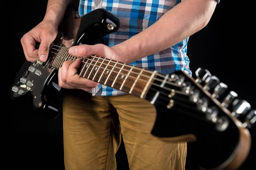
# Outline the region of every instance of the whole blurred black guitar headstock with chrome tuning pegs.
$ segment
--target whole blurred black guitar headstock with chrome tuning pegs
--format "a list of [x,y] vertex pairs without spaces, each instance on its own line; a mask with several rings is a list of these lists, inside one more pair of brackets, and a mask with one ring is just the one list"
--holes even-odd
[[157,110],[151,133],[166,142],[196,142],[204,169],[236,169],[250,152],[256,111],[208,70],[195,75],[155,78],[146,96]]

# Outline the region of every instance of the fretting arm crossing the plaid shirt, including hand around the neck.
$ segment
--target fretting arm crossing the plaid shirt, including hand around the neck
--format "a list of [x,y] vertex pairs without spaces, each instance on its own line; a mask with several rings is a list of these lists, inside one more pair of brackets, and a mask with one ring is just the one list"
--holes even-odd
[[[76,57],[97,55],[119,62],[131,63],[162,51],[204,28],[215,10],[215,0],[183,0],[156,23],[130,39],[111,48],[106,45],[78,45],[69,53]],[[63,88],[91,90],[98,84],[79,77],[81,59],[64,62],[59,70],[59,85]]]

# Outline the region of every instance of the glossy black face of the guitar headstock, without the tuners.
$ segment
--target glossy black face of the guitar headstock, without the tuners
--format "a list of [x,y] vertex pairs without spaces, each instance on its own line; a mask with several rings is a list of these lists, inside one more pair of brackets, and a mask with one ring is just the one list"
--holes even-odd
[[[177,71],[175,74],[183,75],[183,72]],[[186,76],[184,76],[186,77]],[[163,79],[163,77],[157,77]],[[192,82],[189,78],[185,82]],[[154,83],[160,83],[155,81]],[[199,91],[197,85],[193,85]],[[167,88],[174,88],[182,91],[179,87],[166,84]],[[197,105],[189,100],[189,96],[175,94],[172,97],[174,106],[168,109],[170,98],[169,91],[163,88],[152,86],[148,91],[146,99],[151,101],[156,94],[160,92],[154,106],[157,110],[157,118],[151,133],[158,137],[176,137],[186,134],[194,134],[197,138],[197,152],[199,166],[205,169],[214,169],[229,163],[227,160],[235,156],[239,144],[239,129],[233,120],[227,116],[222,109],[201,91],[201,97],[208,99],[208,107],[218,109],[218,116],[223,116],[229,120],[229,126],[226,130],[220,132],[216,129],[216,124],[206,119],[206,113],[199,111]],[[226,162],[225,162],[226,161]]]

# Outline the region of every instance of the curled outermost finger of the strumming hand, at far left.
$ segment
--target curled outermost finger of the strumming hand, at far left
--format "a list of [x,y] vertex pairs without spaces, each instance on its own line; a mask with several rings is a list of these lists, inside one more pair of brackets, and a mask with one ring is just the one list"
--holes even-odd
[[35,49],[35,39],[30,35],[25,35],[23,38],[24,48],[28,58],[38,58],[38,50]]

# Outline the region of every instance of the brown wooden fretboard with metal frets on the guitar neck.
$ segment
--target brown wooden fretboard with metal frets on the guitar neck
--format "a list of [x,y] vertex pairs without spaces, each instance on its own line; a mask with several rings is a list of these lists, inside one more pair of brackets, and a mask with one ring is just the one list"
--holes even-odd
[[[68,48],[53,47],[50,52],[54,58],[52,66],[57,69],[61,68],[65,61],[78,59],[68,53]],[[156,71],[145,70],[98,56],[82,58],[81,68],[78,72],[80,77],[140,96],[140,98],[145,97],[156,73]]]

